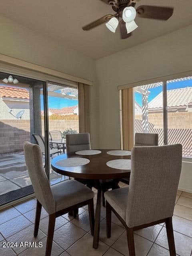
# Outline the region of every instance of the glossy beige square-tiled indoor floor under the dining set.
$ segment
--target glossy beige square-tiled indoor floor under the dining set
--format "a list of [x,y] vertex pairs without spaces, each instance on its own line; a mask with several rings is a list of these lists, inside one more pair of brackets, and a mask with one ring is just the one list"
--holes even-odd
[[[126,186],[120,182],[120,186]],[[95,192],[96,194],[96,192]],[[94,200],[96,204],[96,200]],[[1,256],[44,256],[48,214],[42,210],[39,233],[33,236],[36,200],[31,199],[0,212]],[[106,238],[106,214],[102,208],[100,242],[92,248],[93,237],[87,207],[80,208],[74,219],[65,214],[56,219],[52,256],[128,256],[126,232],[122,224],[112,216],[112,236]],[[173,217],[176,253],[192,256],[192,194],[178,191]],[[136,256],[169,256],[166,228],[156,225],[135,232]],[[2,248],[2,242],[42,242],[42,248]]]

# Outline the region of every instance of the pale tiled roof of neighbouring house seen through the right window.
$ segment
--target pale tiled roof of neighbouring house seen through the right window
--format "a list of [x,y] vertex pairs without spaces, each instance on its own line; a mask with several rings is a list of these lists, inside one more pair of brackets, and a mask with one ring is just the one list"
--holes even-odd
[[[168,108],[185,107],[192,104],[192,87],[174,89],[167,91]],[[162,92],[149,102],[149,110],[163,108]]]

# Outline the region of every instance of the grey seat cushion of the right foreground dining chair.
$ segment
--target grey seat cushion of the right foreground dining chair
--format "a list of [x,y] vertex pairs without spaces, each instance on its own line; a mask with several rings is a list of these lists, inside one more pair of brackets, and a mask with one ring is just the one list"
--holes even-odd
[[114,210],[126,221],[126,207],[129,187],[117,188],[105,192],[106,201],[114,208]]

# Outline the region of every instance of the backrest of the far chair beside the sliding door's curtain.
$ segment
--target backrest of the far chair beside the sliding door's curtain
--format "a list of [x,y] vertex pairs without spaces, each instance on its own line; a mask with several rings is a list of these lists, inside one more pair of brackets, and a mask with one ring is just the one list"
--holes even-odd
[[66,134],[67,153],[89,149],[91,149],[89,133]]

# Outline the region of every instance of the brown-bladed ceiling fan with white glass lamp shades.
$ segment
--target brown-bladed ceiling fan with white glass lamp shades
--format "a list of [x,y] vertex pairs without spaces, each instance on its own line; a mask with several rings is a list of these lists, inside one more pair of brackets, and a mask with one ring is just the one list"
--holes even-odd
[[138,28],[134,19],[136,15],[140,18],[156,20],[168,20],[173,14],[173,8],[162,6],[142,5],[135,9],[135,5],[140,0],[100,0],[112,6],[116,14],[108,14],[82,27],[83,30],[91,30],[96,26],[106,23],[112,32],[115,32],[120,24],[121,39],[126,39],[132,35],[132,31]]

